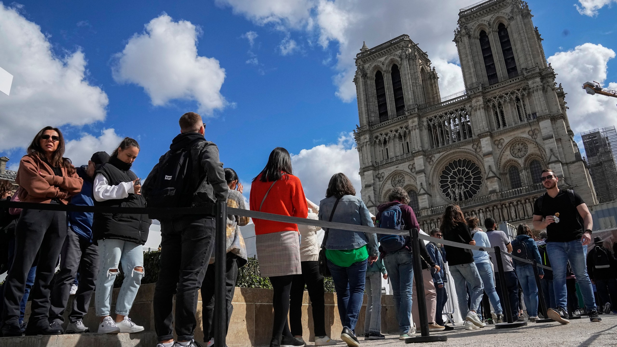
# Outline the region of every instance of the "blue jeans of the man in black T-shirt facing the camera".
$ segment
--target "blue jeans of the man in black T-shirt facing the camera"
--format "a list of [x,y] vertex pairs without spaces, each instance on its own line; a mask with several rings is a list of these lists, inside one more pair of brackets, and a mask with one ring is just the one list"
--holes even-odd
[[581,241],[548,242],[546,251],[549,254],[550,265],[553,268],[553,289],[555,290],[555,305],[568,307],[566,291],[566,264],[570,262],[576,282],[581,288],[581,294],[587,311],[595,310],[594,289],[587,275],[587,246]]

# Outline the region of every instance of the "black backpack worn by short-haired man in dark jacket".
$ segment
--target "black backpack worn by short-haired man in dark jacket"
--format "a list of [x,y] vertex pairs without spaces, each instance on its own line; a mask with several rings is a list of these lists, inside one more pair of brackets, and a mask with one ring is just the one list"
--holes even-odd
[[[199,153],[207,141],[199,141],[180,151],[168,151],[159,159],[154,182],[145,182],[147,207],[193,206],[193,194],[204,179],[199,177]],[[170,215],[149,215],[152,219],[169,219]]]

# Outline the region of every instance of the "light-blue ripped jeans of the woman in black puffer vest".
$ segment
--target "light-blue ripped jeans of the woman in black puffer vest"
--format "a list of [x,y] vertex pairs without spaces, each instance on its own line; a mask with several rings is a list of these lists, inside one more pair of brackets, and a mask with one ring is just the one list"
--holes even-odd
[[144,277],[143,247],[130,241],[105,239],[99,240],[99,252],[101,265],[96,281],[96,316],[110,315],[114,281],[120,273],[118,270],[120,262],[122,262],[124,281],[115,303],[115,313],[128,316],[139,290],[141,278]]

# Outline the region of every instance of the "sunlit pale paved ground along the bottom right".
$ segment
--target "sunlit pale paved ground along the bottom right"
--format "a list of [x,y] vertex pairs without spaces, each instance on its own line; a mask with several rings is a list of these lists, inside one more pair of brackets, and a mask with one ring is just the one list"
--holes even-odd
[[[573,319],[570,324],[561,325],[557,322],[531,323],[526,327],[516,329],[495,329],[491,325],[477,330],[465,330],[457,327],[447,333],[435,333],[434,335],[447,335],[445,342],[423,343],[422,346],[469,346],[469,347],[582,347],[582,346],[617,346],[617,315],[603,314],[602,323],[591,323],[587,317]],[[419,336],[420,334],[416,334]],[[433,335],[433,334],[431,334]],[[385,340],[363,341],[361,347],[394,347],[415,346],[405,345],[405,341],[399,341],[398,336],[386,335]],[[384,346],[382,346],[384,345]],[[341,346],[341,343],[337,344]]]

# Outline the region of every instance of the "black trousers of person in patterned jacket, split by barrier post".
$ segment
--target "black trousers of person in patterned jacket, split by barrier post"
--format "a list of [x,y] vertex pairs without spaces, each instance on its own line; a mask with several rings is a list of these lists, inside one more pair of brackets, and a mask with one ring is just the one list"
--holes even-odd
[[[225,259],[225,299],[227,301],[227,325],[225,332],[230,327],[231,314],[233,313],[233,293],[236,290],[236,279],[238,278],[238,261],[241,258],[233,253],[227,253]],[[202,304],[202,324],[204,325],[204,342],[210,341],[214,337],[214,292],[215,292],[215,265],[208,265],[205,271],[204,282],[201,285],[201,304]]]

